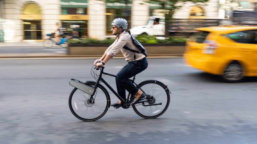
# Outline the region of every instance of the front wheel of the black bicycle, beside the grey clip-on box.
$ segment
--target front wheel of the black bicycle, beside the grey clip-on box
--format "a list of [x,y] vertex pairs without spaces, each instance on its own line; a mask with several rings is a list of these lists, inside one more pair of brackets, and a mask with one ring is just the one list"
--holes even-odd
[[[94,87],[95,82],[85,82],[88,86]],[[110,107],[110,96],[107,90],[99,84],[96,89],[94,104],[87,103],[90,95],[74,88],[69,97],[69,108],[72,114],[82,121],[96,121],[106,114]]]

